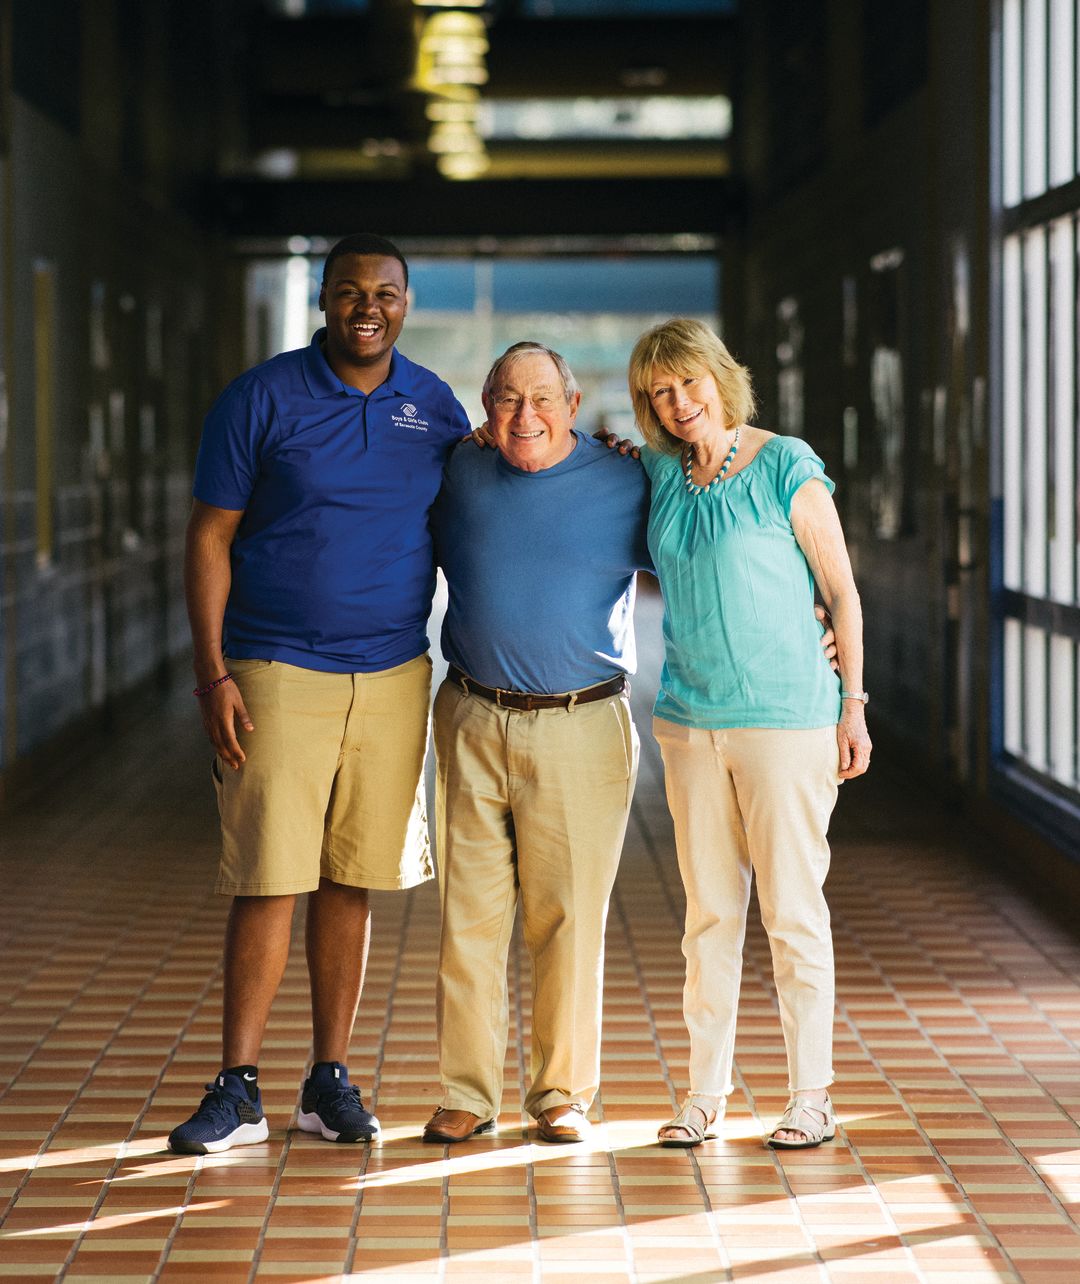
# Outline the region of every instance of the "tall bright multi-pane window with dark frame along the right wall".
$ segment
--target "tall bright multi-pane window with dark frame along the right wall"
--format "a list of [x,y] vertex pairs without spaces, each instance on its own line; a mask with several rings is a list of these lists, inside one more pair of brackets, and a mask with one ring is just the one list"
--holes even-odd
[[1002,0],[1004,759],[1080,801],[1077,0]]

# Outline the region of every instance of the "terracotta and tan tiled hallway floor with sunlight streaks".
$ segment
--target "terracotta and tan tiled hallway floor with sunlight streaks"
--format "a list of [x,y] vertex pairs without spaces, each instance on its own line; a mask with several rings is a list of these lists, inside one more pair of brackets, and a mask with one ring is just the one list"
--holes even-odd
[[351,1071],[381,1143],[290,1127],[308,1050],[298,941],[261,1062],[270,1141],[170,1156],[168,1129],[217,1070],[226,908],[209,892],[214,815],[189,706],[181,693],[3,820],[0,1275],[1080,1280],[1080,946],[885,763],[845,786],[833,826],[832,1145],[774,1154],[759,1140],[786,1079],[760,928],[723,1138],[654,1144],[684,1091],[687,1039],[681,891],[645,737],[611,908],[593,1145],[533,1144],[518,1111],[520,951],[498,1135],[449,1153],[419,1143],[437,1100],[426,887],[376,903]]

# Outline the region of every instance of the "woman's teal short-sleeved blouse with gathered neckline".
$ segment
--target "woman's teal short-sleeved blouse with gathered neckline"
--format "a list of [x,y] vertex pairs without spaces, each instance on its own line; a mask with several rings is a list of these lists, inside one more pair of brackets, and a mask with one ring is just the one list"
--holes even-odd
[[824,465],[796,437],[690,494],[678,456],[642,451],[649,551],[664,594],[665,661],[654,713],[684,727],[809,729],[840,720],[821,648],[814,579],[791,529],[795,492]]

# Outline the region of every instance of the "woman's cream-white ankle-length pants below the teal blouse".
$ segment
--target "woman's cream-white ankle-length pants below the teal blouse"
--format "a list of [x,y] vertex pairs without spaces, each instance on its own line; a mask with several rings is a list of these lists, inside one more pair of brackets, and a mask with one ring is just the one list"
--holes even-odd
[[773,957],[788,1090],[827,1088],[835,991],[822,887],[837,790],[836,728],[701,731],[654,718],[652,731],[686,887],[691,1091],[732,1090],[751,869]]

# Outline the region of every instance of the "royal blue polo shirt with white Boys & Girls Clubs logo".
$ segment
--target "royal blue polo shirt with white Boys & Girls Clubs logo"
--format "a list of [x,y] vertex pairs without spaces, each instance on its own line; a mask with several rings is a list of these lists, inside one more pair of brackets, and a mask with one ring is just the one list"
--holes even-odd
[[469,416],[394,351],[372,393],[334,374],[325,330],[235,379],[207,415],[194,494],[243,508],[225,652],[371,673],[428,648],[428,510]]

